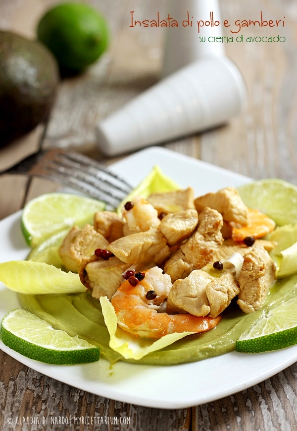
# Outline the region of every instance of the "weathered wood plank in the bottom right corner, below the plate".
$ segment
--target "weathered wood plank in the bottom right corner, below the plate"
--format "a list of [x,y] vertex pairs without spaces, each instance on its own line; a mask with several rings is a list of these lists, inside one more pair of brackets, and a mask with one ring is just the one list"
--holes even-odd
[[295,430],[296,372],[297,365],[294,364],[249,389],[196,407],[193,429]]

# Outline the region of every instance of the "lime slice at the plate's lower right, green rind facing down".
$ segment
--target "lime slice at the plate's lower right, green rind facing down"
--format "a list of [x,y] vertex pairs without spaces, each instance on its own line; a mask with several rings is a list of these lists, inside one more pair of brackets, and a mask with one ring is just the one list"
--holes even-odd
[[264,310],[236,341],[238,352],[267,352],[297,344],[297,289]]

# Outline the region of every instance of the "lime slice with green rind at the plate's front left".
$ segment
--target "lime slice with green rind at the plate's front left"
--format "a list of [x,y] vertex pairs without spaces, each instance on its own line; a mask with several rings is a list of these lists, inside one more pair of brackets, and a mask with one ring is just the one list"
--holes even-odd
[[53,329],[45,320],[20,308],[2,318],[0,339],[21,355],[47,364],[85,364],[98,361],[100,356],[99,347]]

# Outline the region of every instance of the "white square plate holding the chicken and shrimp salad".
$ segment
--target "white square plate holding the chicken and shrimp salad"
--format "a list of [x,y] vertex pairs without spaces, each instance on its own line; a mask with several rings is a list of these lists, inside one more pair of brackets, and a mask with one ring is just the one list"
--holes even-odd
[[[192,186],[196,195],[225,186],[239,186],[250,179],[164,148],[151,147],[115,163],[112,169],[132,185],[154,165],[182,188]],[[0,222],[0,262],[25,259],[28,247],[20,231],[17,212]],[[0,318],[19,307],[17,296],[0,284]],[[56,380],[106,398],[147,407],[178,409],[231,395],[285,369],[297,361],[297,346],[243,354],[231,352],[216,358],[171,367],[152,367],[107,361],[77,366],[53,366],[23,357],[0,342],[0,348],[19,362]]]

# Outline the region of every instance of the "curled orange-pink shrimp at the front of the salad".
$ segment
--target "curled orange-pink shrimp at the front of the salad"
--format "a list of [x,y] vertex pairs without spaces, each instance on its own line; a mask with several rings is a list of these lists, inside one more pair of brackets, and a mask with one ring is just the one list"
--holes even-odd
[[[120,328],[139,338],[157,339],[174,332],[204,332],[215,327],[221,316],[198,317],[192,314],[158,312],[172,287],[168,274],[153,267],[145,271],[145,278],[132,286],[124,281],[111,299]],[[148,299],[148,292],[156,294]],[[154,297],[154,294],[152,294]]]

